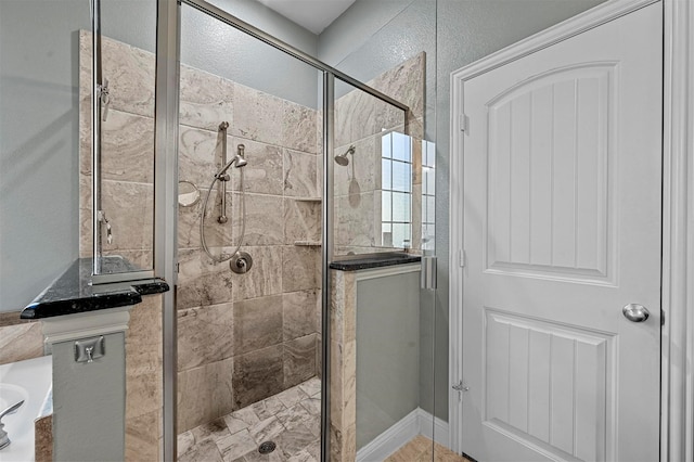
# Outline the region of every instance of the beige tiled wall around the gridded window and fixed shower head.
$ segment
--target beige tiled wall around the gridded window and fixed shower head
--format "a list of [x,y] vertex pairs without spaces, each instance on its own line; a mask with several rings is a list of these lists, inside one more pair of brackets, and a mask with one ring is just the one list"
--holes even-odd
[[[335,102],[335,155],[350,145],[349,165],[335,166],[335,255],[388,252],[381,239],[381,139],[389,131],[416,140],[424,127],[424,52],[368,82],[410,107],[407,115],[361,90]],[[412,246],[421,243],[421,145],[413,141]],[[419,163],[417,163],[419,159]],[[419,175],[417,175],[419,171]],[[419,201],[419,202],[417,202]]]

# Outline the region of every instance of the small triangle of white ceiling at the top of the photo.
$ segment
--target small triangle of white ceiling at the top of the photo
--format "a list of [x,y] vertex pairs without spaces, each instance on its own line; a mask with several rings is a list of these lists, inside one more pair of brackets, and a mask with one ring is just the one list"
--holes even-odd
[[282,16],[318,35],[355,0],[258,0]]

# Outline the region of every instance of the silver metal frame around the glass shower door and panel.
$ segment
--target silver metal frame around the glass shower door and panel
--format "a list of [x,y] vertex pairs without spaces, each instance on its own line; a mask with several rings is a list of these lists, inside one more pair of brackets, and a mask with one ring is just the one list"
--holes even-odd
[[154,269],[174,286],[163,294],[163,460],[177,459],[177,220],[178,124],[181,5],[198,10],[323,73],[323,184],[321,246],[322,377],[321,460],[330,455],[330,270],[333,243],[333,163],[335,79],[342,80],[404,113],[406,132],[410,108],[278,38],[241,21],[204,0],[157,0],[155,88]]

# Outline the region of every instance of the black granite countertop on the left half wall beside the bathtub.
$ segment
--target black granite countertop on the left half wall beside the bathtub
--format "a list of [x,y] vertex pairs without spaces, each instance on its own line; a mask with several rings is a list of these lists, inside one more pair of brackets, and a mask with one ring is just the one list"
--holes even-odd
[[[108,268],[111,272],[114,266],[129,270],[134,268],[120,257],[104,258],[104,269]],[[142,295],[160,294],[169,290],[166,281],[159,278],[92,285],[91,269],[91,258],[76,260],[22,310],[21,318],[52,318],[136,305],[142,301]]]

